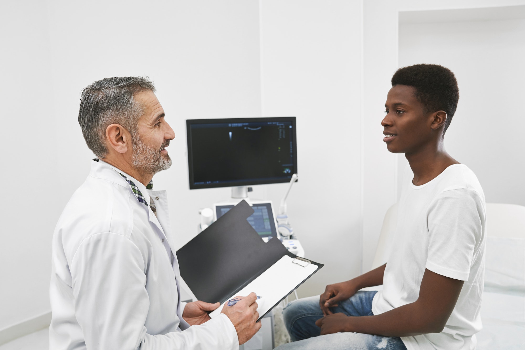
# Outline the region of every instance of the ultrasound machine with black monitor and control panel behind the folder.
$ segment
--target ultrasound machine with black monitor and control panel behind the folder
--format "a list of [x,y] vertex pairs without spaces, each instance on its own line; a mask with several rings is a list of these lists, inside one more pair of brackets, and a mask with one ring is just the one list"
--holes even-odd
[[[231,198],[202,209],[199,231],[239,201],[254,209],[248,222],[261,239],[279,239],[292,253],[304,250],[286,214],[286,197],[297,181],[296,118],[186,120],[190,189],[232,187]],[[270,200],[248,197],[251,185],[289,183],[276,213]]]

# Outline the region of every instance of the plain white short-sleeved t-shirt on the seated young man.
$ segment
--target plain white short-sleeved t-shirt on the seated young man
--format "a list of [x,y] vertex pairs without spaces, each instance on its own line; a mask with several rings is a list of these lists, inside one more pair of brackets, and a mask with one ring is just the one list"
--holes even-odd
[[450,165],[421,186],[413,185],[412,178],[407,166],[383,290],[374,296],[372,312],[415,302],[425,268],[465,281],[443,332],[401,339],[408,350],[474,349],[474,334],[481,330],[485,195],[476,175],[463,164]]

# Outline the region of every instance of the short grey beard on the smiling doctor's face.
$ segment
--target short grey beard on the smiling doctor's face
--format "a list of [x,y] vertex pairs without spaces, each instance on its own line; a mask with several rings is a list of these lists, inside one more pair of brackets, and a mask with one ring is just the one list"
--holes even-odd
[[140,173],[154,175],[171,166],[169,155],[163,156],[160,149],[146,145],[138,135],[132,135],[131,144],[133,146],[131,160]]

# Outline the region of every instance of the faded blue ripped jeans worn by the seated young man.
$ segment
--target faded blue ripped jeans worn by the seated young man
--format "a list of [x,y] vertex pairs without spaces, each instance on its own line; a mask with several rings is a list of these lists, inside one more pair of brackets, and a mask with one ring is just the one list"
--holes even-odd
[[[359,291],[330,309],[333,313],[342,312],[348,316],[373,315],[372,299],[375,293]],[[350,332],[320,335],[321,328],[316,326],[316,321],[323,317],[319,295],[292,301],[282,315],[293,342],[279,346],[279,350],[406,350],[400,337]]]

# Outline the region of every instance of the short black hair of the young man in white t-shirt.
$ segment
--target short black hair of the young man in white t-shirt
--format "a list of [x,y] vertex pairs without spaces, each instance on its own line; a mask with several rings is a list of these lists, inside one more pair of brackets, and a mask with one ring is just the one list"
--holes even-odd
[[398,69],[392,77],[392,86],[413,87],[414,97],[425,107],[425,112],[445,111],[447,120],[443,134],[456,112],[459,89],[456,76],[450,69],[439,65],[414,65]]

